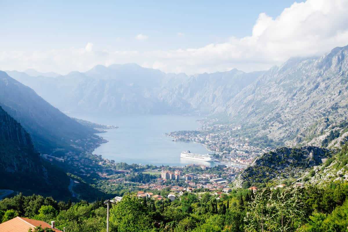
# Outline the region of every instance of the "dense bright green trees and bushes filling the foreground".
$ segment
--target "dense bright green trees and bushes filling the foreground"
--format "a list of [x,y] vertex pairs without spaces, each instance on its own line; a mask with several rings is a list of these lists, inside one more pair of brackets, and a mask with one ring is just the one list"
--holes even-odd
[[[309,186],[255,194],[233,190],[230,194],[185,192],[180,199],[139,199],[133,194],[110,209],[110,231],[164,232],[256,232],[256,231],[346,231],[348,183]],[[0,201],[0,219],[18,216],[46,222],[66,232],[106,231],[103,201],[57,202],[39,195],[19,194]]]

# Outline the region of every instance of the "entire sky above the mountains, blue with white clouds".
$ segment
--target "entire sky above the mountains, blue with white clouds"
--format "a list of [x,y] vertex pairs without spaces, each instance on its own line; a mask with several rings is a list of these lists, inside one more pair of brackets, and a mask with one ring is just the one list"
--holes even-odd
[[0,0],[0,70],[267,70],[348,45],[348,0]]

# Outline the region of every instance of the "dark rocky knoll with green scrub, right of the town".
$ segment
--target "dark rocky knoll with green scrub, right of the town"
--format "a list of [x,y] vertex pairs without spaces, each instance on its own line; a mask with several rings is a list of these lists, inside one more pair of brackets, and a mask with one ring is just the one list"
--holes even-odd
[[244,182],[268,183],[290,177],[300,177],[308,169],[323,163],[330,151],[315,146],[297,148],[281,147],[264,153],[256,158],[236,179],[234,183],[241,187]]

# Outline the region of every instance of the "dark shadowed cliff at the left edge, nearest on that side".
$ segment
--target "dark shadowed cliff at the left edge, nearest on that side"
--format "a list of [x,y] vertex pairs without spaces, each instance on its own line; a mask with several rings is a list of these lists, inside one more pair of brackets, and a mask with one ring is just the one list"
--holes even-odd
[[69,178],[35,152],[30,135],[0,106],[0,189],[67,199]]

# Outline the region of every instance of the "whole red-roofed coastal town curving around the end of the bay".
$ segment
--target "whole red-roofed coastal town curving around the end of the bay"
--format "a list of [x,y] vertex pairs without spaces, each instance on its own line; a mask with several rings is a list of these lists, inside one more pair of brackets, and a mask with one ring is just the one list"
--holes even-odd
[[[42,154],[41,157],[50,162],[59,162],[60,166],[72,165],[72,178],[98,176],[101,180],[97,185],[105,193],[118,196],[124,191],[137,192],[139,197],[158,200],[168,198],[169,195],[171,198],[178,197],[183,192],[228,194],[238,174],[271,147],[253,145],[250,138],[239,135],[242,131],[240,125],[220,124],[214,119],[200,123],[202,126],[199,130],[176,131],[166,135],[173,137],[174,141],[203,144],[211,154],[193,155],[209,156],[210,164],[197,164],[192,160],[192,164],[184,167],[128,165],[103,159],[101,155],[89,154],[86,157],[86,153],[67,153],[59,149],[52,154]],[[72,189],[79,185],[79,182],[74,182]]]

